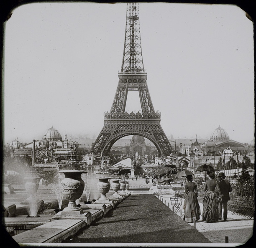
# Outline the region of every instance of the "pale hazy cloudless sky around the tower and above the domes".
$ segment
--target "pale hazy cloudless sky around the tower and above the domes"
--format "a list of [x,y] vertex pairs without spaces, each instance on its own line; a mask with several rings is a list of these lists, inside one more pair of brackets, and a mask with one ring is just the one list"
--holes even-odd
[[[168,137],[254,137],[253,23],[235,5],[140,3],[148,89]],[[97,137],[118,85],[126,4],[34,3],[5,26],[4,138]],[[135,94],[136,93],[136,94]],[[126,110],[141,109],[129,91]]]

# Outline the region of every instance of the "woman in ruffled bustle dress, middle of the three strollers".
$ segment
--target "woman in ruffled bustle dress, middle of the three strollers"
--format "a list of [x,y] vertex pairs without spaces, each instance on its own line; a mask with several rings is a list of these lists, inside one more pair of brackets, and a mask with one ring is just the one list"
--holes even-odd
[[215,174],[208,174],[210,180],[205,182],[205,196],[203,198],[204,208],[202,212],[202,220],[207,223],[213,223],[219,220],[218,215],[218,184],[215,180]]

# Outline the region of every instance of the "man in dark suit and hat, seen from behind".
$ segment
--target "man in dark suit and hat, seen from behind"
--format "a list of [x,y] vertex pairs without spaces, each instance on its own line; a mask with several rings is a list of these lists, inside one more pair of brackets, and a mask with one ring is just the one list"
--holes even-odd
[[220,172],[218,175],[218,186],[220,188],[220,201],[219,201],[219,220],[221,220],[222,205],[223,205],[223,220],[227,220],[228,216],[228,201],[230,200],[229,192],[232,191],[230,183],[225,180],[225,174]]

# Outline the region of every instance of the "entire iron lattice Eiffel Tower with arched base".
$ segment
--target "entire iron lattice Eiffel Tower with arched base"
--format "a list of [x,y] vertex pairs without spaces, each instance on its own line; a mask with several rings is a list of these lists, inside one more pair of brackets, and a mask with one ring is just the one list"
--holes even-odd
[[[128,135],[141,135],[154,143],[159,156],[172,153],[172,146],[160,125],[161,114],[155,112],[144,71],[138,3],[127,3],[125,45],[118,86],[110,112],[104,114],[104,127],[92,144],[91,152],[106,156],[113,144]],[[125,111],[128,91],[138,91],[142,114]]]

